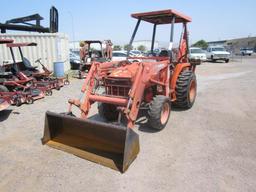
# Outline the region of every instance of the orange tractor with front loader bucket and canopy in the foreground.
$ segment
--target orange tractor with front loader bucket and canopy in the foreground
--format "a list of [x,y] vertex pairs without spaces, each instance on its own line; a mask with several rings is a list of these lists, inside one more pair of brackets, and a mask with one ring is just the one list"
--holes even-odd
[[[171,24],[167,54],[140,57],[142,62],[94,62],[84,81],[81,97],[69,100],[67,113],[46,112],[42,143],[90,161],[124,172],[139,153],[139,137],[133,131],[138,113],[148,110],[148,125],[163,129],[171,106],[191,108],[196,98],[196,64],[188,59],[187,23],[191,19],[174,10],[132,14],[137,24],[132,45],[141,21],[152,23],[151,51],[154,50],[158,25]],[[174,26],[181,23],[181,41],[173,53]],[[130,46],[131,47],[131,46]],[[176,59],[175,59],[176,58]],[[99,114],[110,122],[88,118],[91,106],[98,103]],[[72,106],[81,111],[79,117]]]

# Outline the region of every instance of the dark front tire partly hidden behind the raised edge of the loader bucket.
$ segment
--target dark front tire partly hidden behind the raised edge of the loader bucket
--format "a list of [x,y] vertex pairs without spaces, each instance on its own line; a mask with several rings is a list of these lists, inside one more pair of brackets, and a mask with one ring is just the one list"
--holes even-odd
[[108,103],[98,103],[99,115],[107,121],[116,121],[118,119],[119,112],[115,105]]

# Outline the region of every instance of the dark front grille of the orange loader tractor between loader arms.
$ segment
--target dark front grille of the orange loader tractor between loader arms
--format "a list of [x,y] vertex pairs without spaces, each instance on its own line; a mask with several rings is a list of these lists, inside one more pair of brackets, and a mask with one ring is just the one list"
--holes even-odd
[[105,79],[106,94],[118,97],[128,97],[132,83],[130,79]]

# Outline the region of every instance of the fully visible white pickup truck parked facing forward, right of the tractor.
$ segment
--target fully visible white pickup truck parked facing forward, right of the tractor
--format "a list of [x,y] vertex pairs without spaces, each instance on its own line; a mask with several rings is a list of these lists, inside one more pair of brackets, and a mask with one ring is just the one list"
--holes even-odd
[[210,46],[207,48],[207,59],[211,61],[225,61],[229,62],[230,53],[225,50],[223,46]]

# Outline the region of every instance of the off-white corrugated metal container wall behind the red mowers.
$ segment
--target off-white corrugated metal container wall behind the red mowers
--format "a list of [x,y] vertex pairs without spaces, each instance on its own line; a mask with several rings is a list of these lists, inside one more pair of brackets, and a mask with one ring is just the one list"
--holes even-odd
[[[13,39],[16,43],[35,42],[36,47],[23,47],[24,57],[28,58],[31,64],[38,58],[50,69],[53,70],[53,63],[63,61],[65,71],[70,69],[69,64],[69,40],[63,33],[27,33],[27,34],[0,34],[2,39]],[[20,59],[18,49],[15,49],[17,60]],[[12,61],[10,50],[5,45],[0,45],[0,57],[3,61]],[[1,64],[3,61],[0,61]]]

